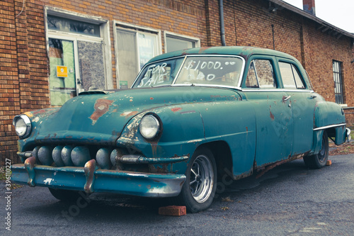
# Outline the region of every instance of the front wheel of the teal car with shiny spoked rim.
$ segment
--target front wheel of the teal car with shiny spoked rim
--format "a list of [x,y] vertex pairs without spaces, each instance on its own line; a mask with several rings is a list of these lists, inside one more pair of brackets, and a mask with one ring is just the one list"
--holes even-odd
[[195,151],[185,176],[178,201],[190,213],[209,208],[217,187],[217,166],[212,152],[207,148]]

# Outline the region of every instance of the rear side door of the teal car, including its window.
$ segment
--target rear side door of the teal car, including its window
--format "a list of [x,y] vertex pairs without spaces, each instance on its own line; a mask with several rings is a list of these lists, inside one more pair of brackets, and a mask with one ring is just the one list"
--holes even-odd
[[292,155],[308,152],[312,148],[314,128],[314,107],[316,94],[305,79],[304,71],[296,62],[278,60],[282,84],[289,97],[294,122],[294,144]]

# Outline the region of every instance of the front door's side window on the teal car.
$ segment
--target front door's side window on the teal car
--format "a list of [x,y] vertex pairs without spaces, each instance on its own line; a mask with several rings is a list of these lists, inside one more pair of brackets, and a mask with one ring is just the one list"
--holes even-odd
[[252,60],[246,78],[248,88],[276,88],[273,65],[270,60]]

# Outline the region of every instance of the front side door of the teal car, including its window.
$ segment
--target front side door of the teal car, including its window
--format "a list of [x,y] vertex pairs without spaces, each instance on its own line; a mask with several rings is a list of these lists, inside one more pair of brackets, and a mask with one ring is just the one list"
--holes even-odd
[[253,55],[242,91],[256,113],[255,167],[287,159],[292,154],[293,120],[290,98],[280,89],[275,57]]

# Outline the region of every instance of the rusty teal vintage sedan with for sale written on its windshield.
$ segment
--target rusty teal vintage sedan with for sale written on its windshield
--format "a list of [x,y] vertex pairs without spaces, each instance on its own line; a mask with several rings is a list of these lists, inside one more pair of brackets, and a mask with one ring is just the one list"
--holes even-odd
[[13,164],[13,181],[60,200],[83,191],[169,197],[192,213],[210,206],[225,175],[300,158],[321,168],[329,138],[350,137],[341,106],[313,91],[295,57],[256,47],[159,55],[131,89],[84,91],[13,125],[24,163]]

